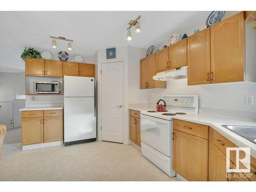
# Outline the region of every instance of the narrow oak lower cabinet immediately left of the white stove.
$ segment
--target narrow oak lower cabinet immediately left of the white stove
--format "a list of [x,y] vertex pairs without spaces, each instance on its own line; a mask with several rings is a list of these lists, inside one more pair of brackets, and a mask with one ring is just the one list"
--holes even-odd
[[130,110],[130,140],[141,146],[140,141],[140,112]]

